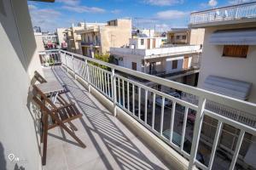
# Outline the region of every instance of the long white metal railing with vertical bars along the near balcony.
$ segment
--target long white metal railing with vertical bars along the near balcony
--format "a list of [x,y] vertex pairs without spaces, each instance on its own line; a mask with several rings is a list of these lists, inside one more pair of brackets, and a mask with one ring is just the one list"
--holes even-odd
[[[224,124],[235,127],[240,132],[238,133],[238,138],[236,140],[235,150],[233,150],[234,152],[230,162],[230,169],[234,169],[236,165],[236,160],[239,155],[239,150],[241,148],[244,134],[249,133],[253,136],[256,136],[256,129],[254,127],[247,126],[246,124],[232,120],[229,117],[219,115],[218,113],[209,111],[206,108],[207,101],[213,101],[218,104],[227,105],[236,110],[255,114],[256,105],[253,103],[248,103],[239,99],[233,99],[221,94],[215,94],[178,82],[172,82],[160,77],[154,77],[139,71],[132,71],[125,67],[112,65],[101,60],[85,57],[80,54],[73,54],[67,51],[59,50],[59,56],[62,65],[67,69],[67,72],[72,72],[75,78],[79,78],[88,83],[89,91],[91,87],[96,88],[96,90],[101,92],[113,102],[114,115],[116,115],[116,107],[123,109],[127,114],[135,118],[138,122],[142,123],[143,126],[147,127],[148,130],[150,130],[160,139],[164,140],[167,144],[172,146],[172,148],[177,150],[179,154],[187,158],[189,160],[189,169],[192,169],[194,166],[200,167],[201,169],[212,169],[212,163],[216,155],[218,141],[220,139]],[[104,68],[98,65],[103,65]],[[143,85],[141,82],[128,79],[119,74],[119,72],[125,72],[125,74],[143,78],[168,88],[174,88],[182,91],[183,93],[193,94],[198,97],[199,102],[195,105],[185,100],[177,99],[154,88],[149,88],[148,86]],[[161,102],[160,105],[159,101]],[[166,107],[166,103],[168,102],[171,104],[171,109]],[[181,108],[184,108],[182,118],[183,128],[181,132],[181,143],[176,144],[173,142],[174,138],[172,138],[175,136],[174,119],[180,115],[180,111],[177,110]],[[167,137],[163,132],[166,110],[170,111],[167,114],[172,114],[171,120],[167,125],[170,127],[169,131],[167,132]],[[189,120],[189,110],[196,111],[196,114],[192,144],[190,151],[188,152],[184,150],[184,143],[186,139],[186,131],[188,130],[186,126],[188,125],[187,120]],[[150,120],[148,119],[149,116],[151,117]],[[157,120],[158,116],[160,116],[159,120]],[[197,160],[198,145],[201,141],[201,126],[204,116],[210,116],[218,122],[212,144],[212,150],[210,151],[211,155],[209,163],[207,165]]]

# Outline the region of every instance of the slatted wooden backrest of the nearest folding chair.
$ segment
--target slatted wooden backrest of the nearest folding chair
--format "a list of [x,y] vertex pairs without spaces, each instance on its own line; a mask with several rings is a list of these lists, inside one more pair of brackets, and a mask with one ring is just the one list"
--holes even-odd
[[32,98],[44,111],[56,110],[56,105],[37,87],[33,85],[33,98]]

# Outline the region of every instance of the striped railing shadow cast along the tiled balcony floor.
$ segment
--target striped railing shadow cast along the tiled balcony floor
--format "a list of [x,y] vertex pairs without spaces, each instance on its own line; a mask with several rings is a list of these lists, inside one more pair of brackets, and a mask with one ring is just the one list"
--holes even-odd
[[108,157],[106,157],[102,151],[101,146],[95,139],[93,133],[99,134],[103,143],[108,148],[109,153],[118,163],[120,169],[163,169],[144,155],[142,150],[140,150],[137,145],[125,135],[105,111],[102,111],[102,109],[90,99],[90,96],[88,96],[84,90],[79,88],[73,78],[68,77],[67,73],[62,71],[60,67],[54,67],[52,71],[60,82],[66,83],[67,86],[70,85],[68,86],[70,95],[77,102],[81,111],[83,111],[84,116],[93,128],[88,127],[83,118],[81,118],[80,121],[86,132],[89,134],[90,140],[95,144],[97,152],[108,169],[113,169],[113,167],[109,162]]

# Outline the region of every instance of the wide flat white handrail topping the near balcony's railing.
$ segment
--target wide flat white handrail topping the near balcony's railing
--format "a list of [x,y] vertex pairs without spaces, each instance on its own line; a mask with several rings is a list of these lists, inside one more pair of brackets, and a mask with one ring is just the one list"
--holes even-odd
[[61,50],[61,49],[59,49],[59,50],[62,53],[75,55],[76,57],[79,57],[81,59],[87,59],[89,61],[96,62],[100,65],[108,66],[108,67],[113,68],[117,71],[122,71],[122,72],[125,72],[125,73],[130,74],[130,75],[136,75],[136,77],[146,79],[150,82],[159,83],[159,84],[164,85],[166,87],[175,88],[175,89],[183,91],[187,94],[194,94],[195,96],[201,96],[201,97],[204,97],[206,99],[215,101],[217,103],[223,103],[223,104],[228,105],[228,106],[230,106],[232,108],[235,108],[237,110],[247,111],[249,113],[255,113],[256,112],[256,104],[251,103],[251,102],[243,101],[241,99],[231,98],[229,96],[225,96],[225,95],[222,95],[222,94],[216,94],[216,93],[207,91],[205,89],[191,87],[189,85],[186,85],[186,84],[183,84],[183,83],[180,83],[180,82],[173,82],[173,81],[167,80],[165,78],[155,77],[155,76],[148,75],[148,74],[140,72],[140,71],[133,71],[131,69],[127,69],[127,68],[119,66],[119,65],[113,65],[113,64],[110,64],[110,63],[106,63],[102,60],[93,59],[93,58],[86,57],[86,56],[81,55],[81,54],[74,54],[74,53],[67,52],[67,51],[64,51],[64,50]]

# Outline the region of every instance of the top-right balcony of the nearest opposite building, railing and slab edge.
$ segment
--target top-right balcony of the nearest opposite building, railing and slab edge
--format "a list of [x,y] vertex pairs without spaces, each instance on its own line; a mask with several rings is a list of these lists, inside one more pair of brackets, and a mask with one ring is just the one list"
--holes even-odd
[[232,25],[256,21],[256,2],[212,8],[190,14],[192,28]]

